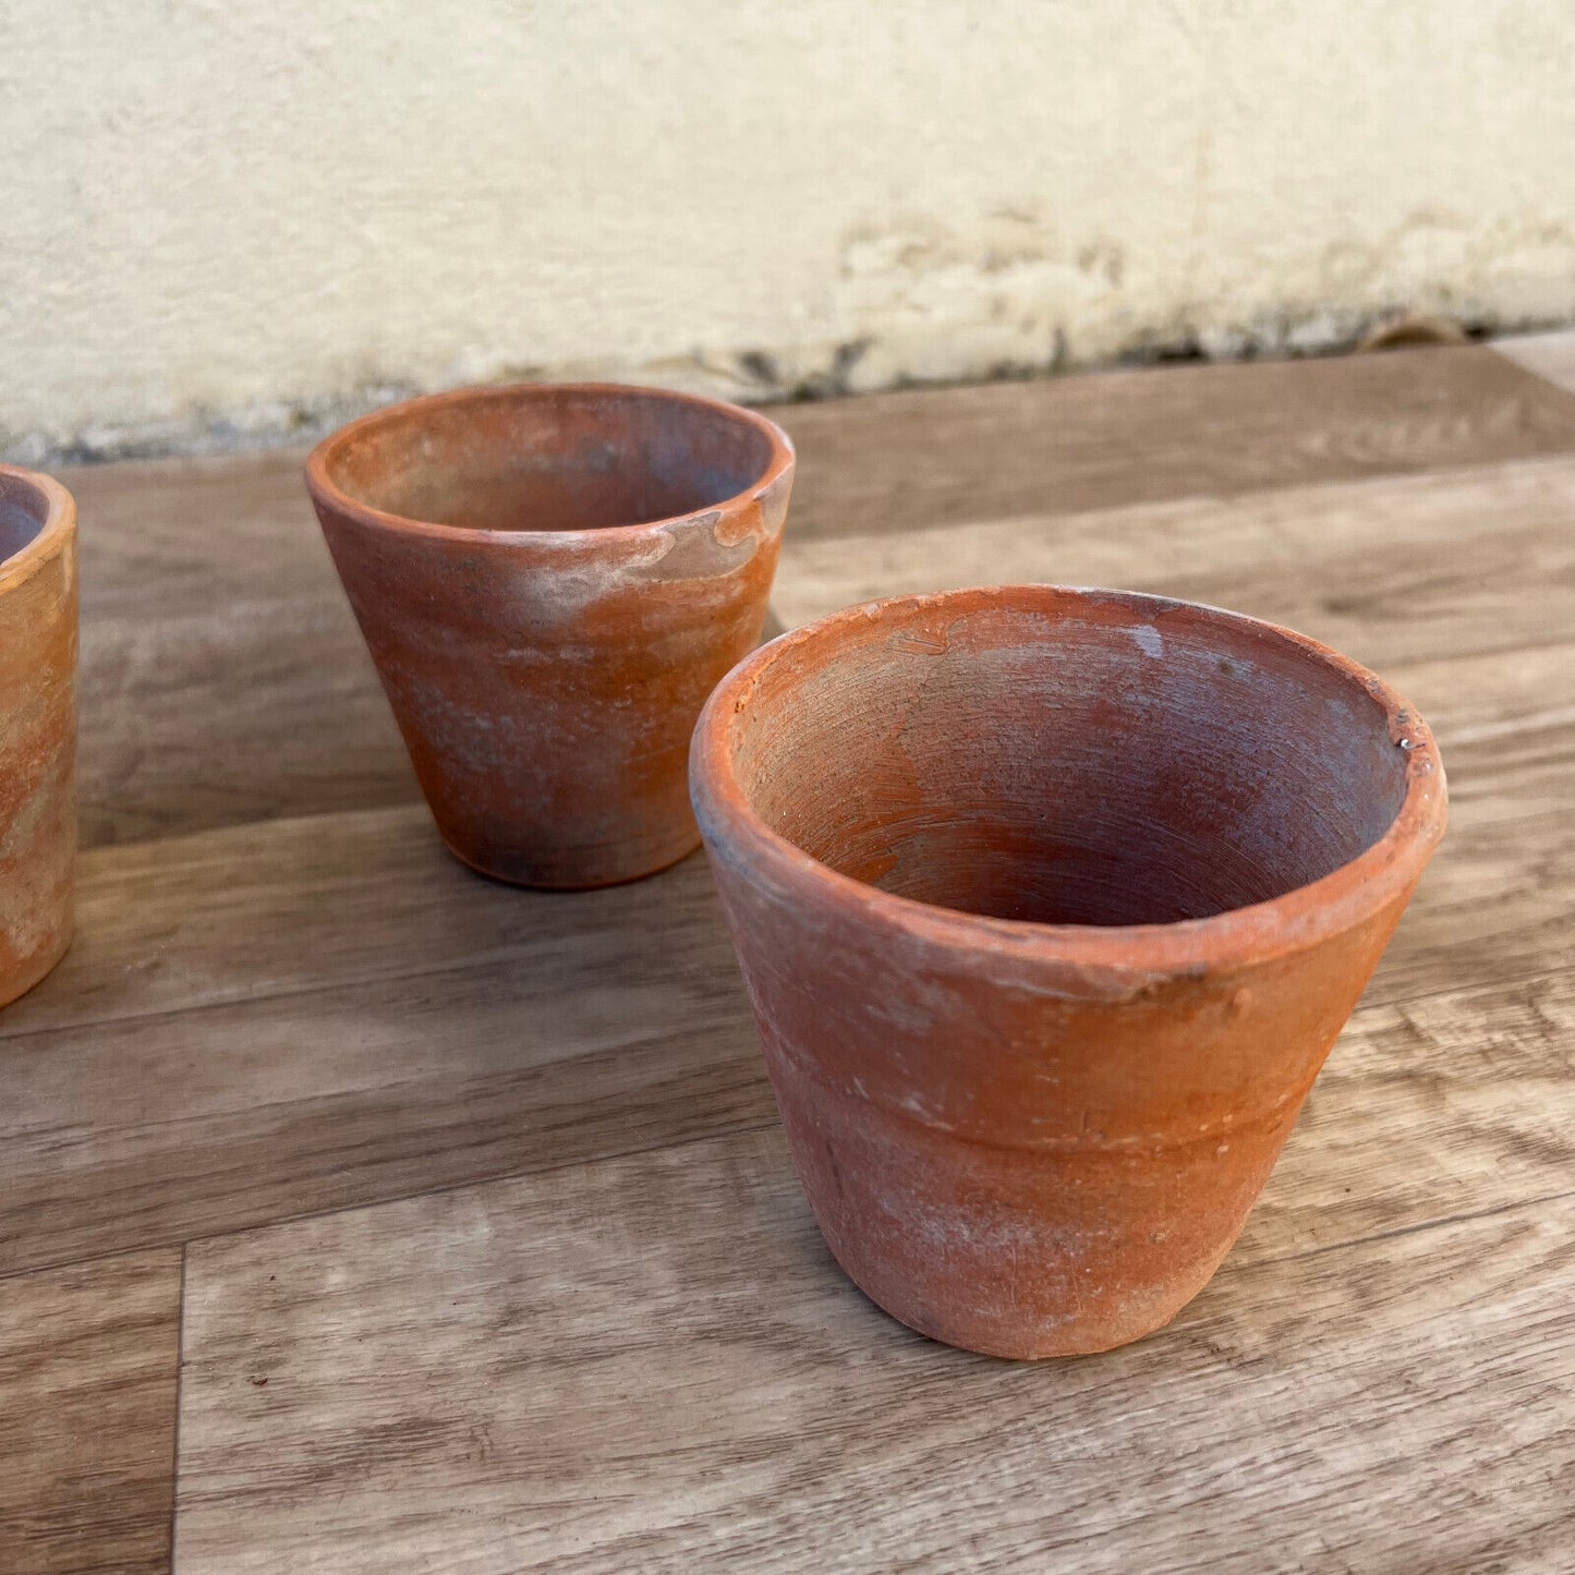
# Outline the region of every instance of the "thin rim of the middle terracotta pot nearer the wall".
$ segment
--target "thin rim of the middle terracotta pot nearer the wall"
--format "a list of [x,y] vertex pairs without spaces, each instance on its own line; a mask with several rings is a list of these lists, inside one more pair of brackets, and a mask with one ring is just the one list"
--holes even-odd
[[[524,403],[543,395],[589,394],[605,395],[621,400],[654,400],[668,405],[680,405],[688,410],[707,411],[726,421],[753,427],[770,444],[770,458],[761,474],[742,491],[731,498],[718,498],[699,509],[688,509],[684,513],[671,513],[662,520],[643,520],[638,524],[591,524],[578,531],[488,531],[472,524],[439,524],[435,520],[411,520],[405,515],[389,513],[362,502],[353,493],[345,491],[329,474],[329,465],[350,443],[364,438],[380,427],[395,427],[411,417],[419,417],[441,410],[443,406],[485,405],[485,403]],[[397,405],[384,405],[383,410],[370,411],[358,417],[337,432],[329,433],[309,455],[306,461],[306,484],[313,498],[326,502],[340,513],[350,515],[359,524],[383,531],[400,531],[408,536],[427,536],[449,542],[520,542],[536,545],[562,545],[569,542],[583,543],[589,537],[608,542],[638,542],[644,537],[660,537],[663,531],[671,531],[676,524],[702,520],[707,515],[736,513],[765,496],[781,479],[792,471],[795,450],[792,438],[783,432],[769,416],[748,410],[743,405],[729,405],[726,400],[704,398],[699,394],[679,394],[676,389],[644,387],[639,383],[501,383],[484,384],[480,387],[449,389],[444,394],[424,394],[421,398],[400,400]]]

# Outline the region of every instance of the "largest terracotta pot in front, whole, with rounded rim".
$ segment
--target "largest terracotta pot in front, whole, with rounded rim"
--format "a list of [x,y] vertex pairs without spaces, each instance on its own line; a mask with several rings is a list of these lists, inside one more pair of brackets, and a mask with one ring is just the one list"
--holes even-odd
[[1051,586],[784,635],[710,698],[691,783],[832,1252],[999,1356],[1202,1290],[1444,830],[1370,673]]

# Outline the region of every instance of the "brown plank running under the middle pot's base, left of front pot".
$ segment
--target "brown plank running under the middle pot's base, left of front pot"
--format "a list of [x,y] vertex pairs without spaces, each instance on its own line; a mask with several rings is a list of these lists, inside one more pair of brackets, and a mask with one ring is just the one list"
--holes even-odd
[[524,891],[454,860],[424,805],[269,821],[83,855],[77,939],[0,1017],[0,1043],[488,964],[548,989],[662,967],[704,989],[718,937],[699,857],[627,887]]

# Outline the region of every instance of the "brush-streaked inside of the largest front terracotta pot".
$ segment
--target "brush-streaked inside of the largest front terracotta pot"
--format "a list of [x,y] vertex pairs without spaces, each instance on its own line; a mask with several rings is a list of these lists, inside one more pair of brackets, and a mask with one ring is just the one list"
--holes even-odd
[[1205,918],[1331,874],[1405,799],[1358,676],[1211,608],[959,592],[778,649],[729,724],[745,799],[821,863],[942,907]]

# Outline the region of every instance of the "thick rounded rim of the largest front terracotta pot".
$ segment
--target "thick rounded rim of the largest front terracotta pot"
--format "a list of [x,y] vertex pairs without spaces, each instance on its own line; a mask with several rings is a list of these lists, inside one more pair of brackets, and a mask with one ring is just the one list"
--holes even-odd
[[[1205,918],[1156,925],[1046,925],[970,914],[884,891],[806,854],[756,813],[734,769],[734,718],[748,707],[764,673],[786,652],[827,639],[860,621],[925,610],[954,610],[958,616],[991,608],[1046,613],[1047,598],[1114,603],[1147,616],[1150,625],[1154,616],[1184,608],[1205,614],[1213,624],[1227,622],[1260,639],[1293,646],[1307,660],[1332,668],[1383,709],[1391,743],[1406,753],[1405,794],[1383,836],[1317,880],[1265,902],[1225,909]],[[1052,616],[1057,614],[1052,611]],[[1066,994],[1073,999],[1110,992],[1126,997],[1177,975],[1200,976],[1214,969],[1258,964],[1340,934],[1414,885],[1444,835],[1447,813],[1447,784],[1432,729],[1399,691],[1350,657],[1279,624],[1205,602],[1049,584],[890,597],[844,608],[780,635],[745,657],[712,691],[695,728],[690,780],[707,849],[753,885],[770,885],[799,898],[813,893],[821,902],[862,910],[866,921],[921,943],[994,953],[1003,962],[1065,964]]]

